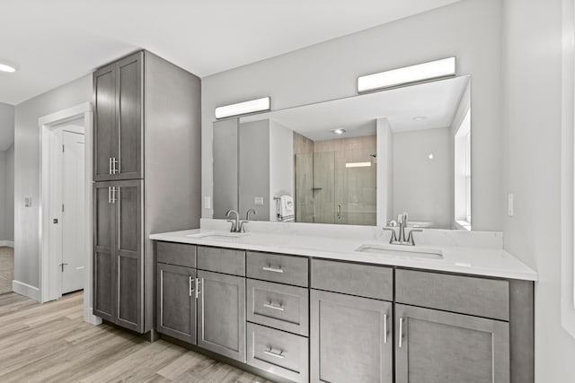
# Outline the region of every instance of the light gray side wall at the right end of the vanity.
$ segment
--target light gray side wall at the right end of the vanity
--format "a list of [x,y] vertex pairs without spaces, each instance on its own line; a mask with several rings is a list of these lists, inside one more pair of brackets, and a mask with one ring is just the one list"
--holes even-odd
[[501,199],[515,195],[515,214],[503,221],[505,248],[539,273],[536,381],[562,383],[575,376],[575,339],[561,323],[562,1],[506,0],[504,25]]

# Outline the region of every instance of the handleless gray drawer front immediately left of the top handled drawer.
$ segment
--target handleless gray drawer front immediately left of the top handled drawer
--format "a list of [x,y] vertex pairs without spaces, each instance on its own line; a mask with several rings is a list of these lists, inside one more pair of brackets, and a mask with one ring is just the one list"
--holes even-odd
[[245,276],[245,251],[199,246],[198,268],[217,273]]

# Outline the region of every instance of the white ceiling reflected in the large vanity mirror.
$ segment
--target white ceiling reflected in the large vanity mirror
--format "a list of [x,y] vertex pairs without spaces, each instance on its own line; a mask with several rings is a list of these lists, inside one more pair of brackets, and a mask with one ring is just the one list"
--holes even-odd
[[[274,110],[241,118],[273,119],[314,141],[376,134],[376,119],[387,118],[394,133],[451,126],[469,76],[376,91],[347,99]],[[425,117],[416,121],[415,117]],[[332,129],[346,133],[334,135]]]

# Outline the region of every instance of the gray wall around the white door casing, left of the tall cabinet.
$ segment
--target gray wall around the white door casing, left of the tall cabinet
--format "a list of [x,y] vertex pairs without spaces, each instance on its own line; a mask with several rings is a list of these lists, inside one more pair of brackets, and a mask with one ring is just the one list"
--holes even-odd
[[[40,127],[38,118],[92,100],[88,74],[15,107],[14,279],[38,287],[40,279],[39,196]],[[24,197],[31,196],[31,207]]]

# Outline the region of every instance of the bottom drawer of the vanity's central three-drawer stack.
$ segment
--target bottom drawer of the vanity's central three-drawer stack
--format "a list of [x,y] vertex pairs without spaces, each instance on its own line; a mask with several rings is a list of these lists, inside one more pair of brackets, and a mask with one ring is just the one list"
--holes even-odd
[[248,364],[295,382],[307,382],[307,338],[248,323]]

